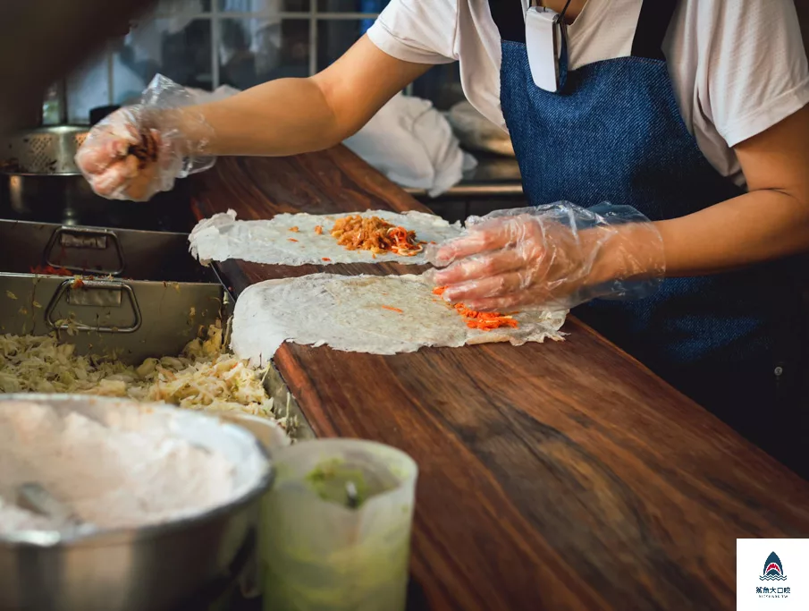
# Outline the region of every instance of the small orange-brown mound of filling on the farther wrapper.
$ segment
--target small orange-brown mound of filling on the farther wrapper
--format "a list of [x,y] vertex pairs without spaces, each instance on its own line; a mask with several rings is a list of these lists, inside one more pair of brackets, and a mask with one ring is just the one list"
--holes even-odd
[[417,241],[416,232],[392,225],[379,216],[343,216],[334,222],[331,233],[337,243],[348,250],[370,250],[374,255],[392,252],[413,257],[426,244]]

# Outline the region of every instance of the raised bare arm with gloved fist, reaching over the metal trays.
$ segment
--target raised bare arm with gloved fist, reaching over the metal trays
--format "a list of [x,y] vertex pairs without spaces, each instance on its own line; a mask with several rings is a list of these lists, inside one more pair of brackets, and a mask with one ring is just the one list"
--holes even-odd
[[[189,159],[283,156],[331,147],[357,132],[429,67],[387,55],[364,36],[308,79],[271,81],[198,106],[122,108],[90,132],[77,161],[99,195],[146,201],[170,189],[178,176],[204,166],[189,167]],[[142,165],[130,154],[139,143],[148,145],[152,157]]]

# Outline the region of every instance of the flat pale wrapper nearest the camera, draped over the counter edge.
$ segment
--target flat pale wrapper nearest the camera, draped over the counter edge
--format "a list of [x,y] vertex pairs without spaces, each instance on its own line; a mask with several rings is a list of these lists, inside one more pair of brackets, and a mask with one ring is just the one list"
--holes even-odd
[[423,346],[560,340],[566,311],[512,315],[516,327],[468,326],[422,276],[313,274],[268,280],[241,293],[232,348],[254,365],[269,361],[283,342],[329,345],[346,352],[396,354]]

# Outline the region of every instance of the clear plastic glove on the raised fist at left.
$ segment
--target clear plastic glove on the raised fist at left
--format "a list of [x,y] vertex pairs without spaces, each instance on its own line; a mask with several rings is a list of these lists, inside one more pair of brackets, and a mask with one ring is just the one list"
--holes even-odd
[[141,103],[98,123],[76,154],[76,165],[93,191],[107,199],[146,201],[170,191],[177,178],[206,170],[212,135],[205,118],[188,108],[187,89],[158,74]]

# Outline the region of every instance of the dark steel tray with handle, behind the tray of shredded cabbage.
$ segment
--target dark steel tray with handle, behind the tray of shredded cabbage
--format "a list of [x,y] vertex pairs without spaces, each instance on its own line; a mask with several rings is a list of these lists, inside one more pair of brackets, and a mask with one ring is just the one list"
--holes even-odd
[[217,282],[213,268],[191,257],[185,233],[0,220],[0,271],[28,274],[45,266],[135,280]]

